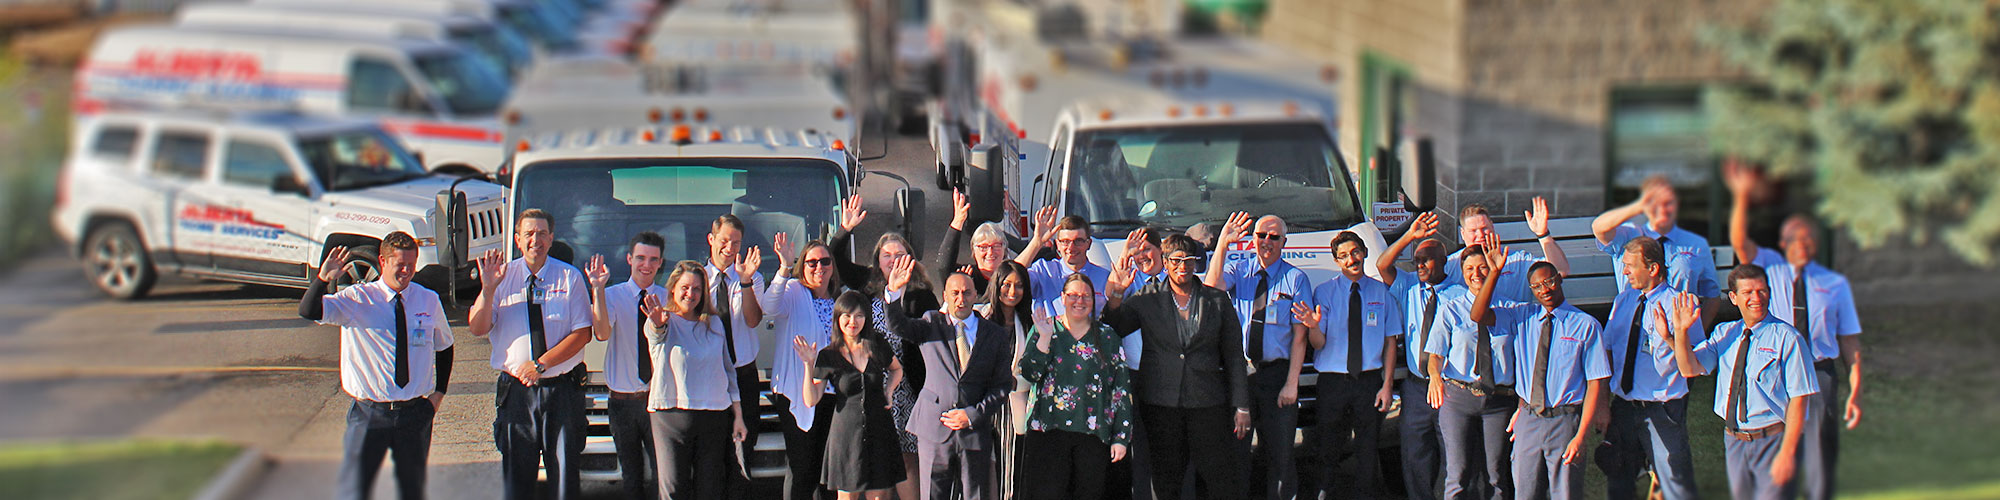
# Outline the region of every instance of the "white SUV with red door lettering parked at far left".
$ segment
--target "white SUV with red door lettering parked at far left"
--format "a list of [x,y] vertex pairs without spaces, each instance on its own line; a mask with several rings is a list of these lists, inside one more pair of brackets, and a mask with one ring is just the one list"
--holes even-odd
[[344,282],[366,282],[398,230],[422,246],[416,280],[448,290],[476,286],[466,256],[504,248],[504,196],[424,172],[370,122],[96,112],[76,116],[52,220],[114,298],[144,296],[158,272],[304,288],[332,246],[352,248]]

